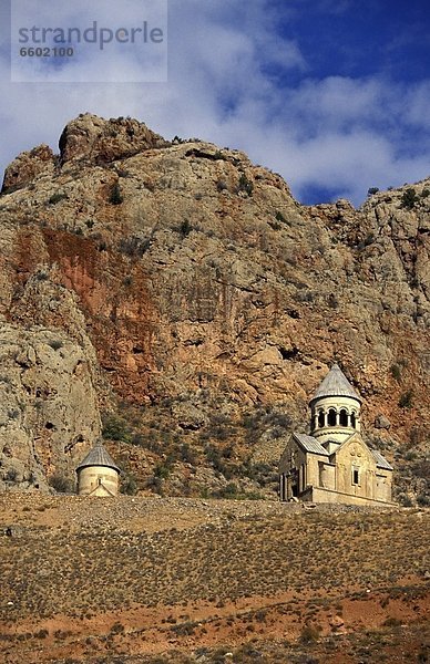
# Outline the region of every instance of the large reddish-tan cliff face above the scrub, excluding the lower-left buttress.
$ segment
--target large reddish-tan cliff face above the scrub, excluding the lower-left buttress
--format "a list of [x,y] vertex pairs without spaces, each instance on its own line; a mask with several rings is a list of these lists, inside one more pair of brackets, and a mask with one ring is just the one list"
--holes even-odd
[[[82,115],[60,148],[43,173],[18,159],[0,200],[0,313],[76,344],[103,407],[166,403],[174,436],[275,463],[336,359],[385,454],[424,449],[430,180],[305,207],[243,153],[129,118]],[[233,425],[275,407],[288,424],[250,448]]]

